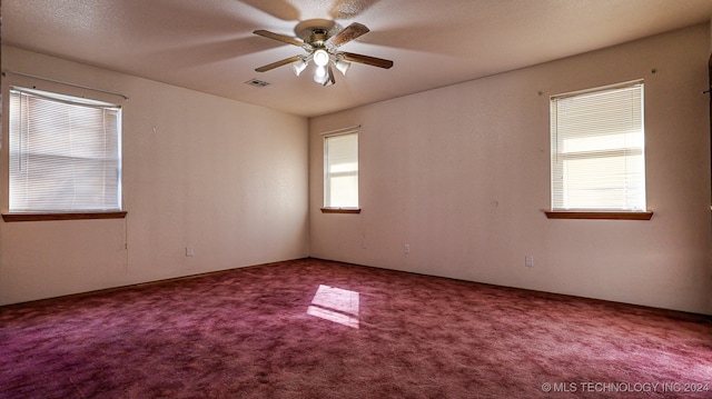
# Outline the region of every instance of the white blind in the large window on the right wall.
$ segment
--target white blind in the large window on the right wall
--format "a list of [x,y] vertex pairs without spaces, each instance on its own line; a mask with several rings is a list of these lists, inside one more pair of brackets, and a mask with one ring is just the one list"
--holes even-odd
[[551,98],[552,210],[645,211],[643,82]]

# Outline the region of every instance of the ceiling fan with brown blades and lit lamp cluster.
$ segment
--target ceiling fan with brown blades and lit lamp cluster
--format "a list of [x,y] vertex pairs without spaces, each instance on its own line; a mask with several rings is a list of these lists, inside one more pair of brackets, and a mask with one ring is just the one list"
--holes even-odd
[[253,33],[300,47],[307,53],[305,56],[294,56],[277,62],[268,63],[256,68],[255,70],[257,72],[266,72],[277,67],[291,64],[294,72],[299,76],[299,73],[307,68],[309,61],[314,61],[317,66],[314,72],[314,81],[322,86],[329,86],[336,83],[333,67],[343,74],[346,74],[352,62],[365,63],[367,66],[384,69],[393,67],[393,61],[390,60],[339,51],[339,47],[367,33],[368,31],[369,30],[366,26],[358,22],[354,22],[338,31],[334,21],[322,19],[307,20],[297,24],[295,32],[301,40],[267,30],[256,30]]

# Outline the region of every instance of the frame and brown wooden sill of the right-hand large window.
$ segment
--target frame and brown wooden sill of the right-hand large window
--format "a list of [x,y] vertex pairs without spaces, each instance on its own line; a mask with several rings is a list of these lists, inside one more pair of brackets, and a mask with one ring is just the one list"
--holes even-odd
[[[641,123],[641,130],[642,130],[642,144],[640,147],[640,150],[642,151],[641,157],[642,157],[642,196],[643,197],[643,205],[645,207],[645,209],[624,209],[624,208],[606,208],[606,207],[601,207],[599,209],[596,209],[595,207],[585,207],[585,208],[556,208],[554,207],[556,200],[556,192],[555,192],[555,178],[556,178],[556,172],[555,172],[555,159],[560,156],[561,152],[558,152],[557,150],[557,142],[558,142],[558,131],[557,129],[557,124],[555,123],[555,118],[557,117],[556,112],[556,107],[558,106],[558,103],[555,103],[556,100],[562,100],[562,99],[570,99],[570,98],[574,98],[574,97],[582,97],[582,96],[592,96],[592,94],[597,94],[601,93],[603,94],[606,91],[611,91],[611,90],[619,90],[619,89],[627,89],[627,88],[634,88],[637,87],[640,88],[640,99],[641,99],[641,108],[640,108],[640,123]],[[578,90],[578,91],[573,91],[573,92],[567,92],[567,93],[562,93],[562,94],[556,94],[556,96],[551,96],[550,97],[550,140],[551,140],[551,144],[550,144],[550,151],[551,151],[551,160],[550,160],[550,194],[551,194],[551,203],[550,203],[550,209],[545,210],[544,213],[546,215],[546,217],[548,219],[609,219],[609,220],[650,220],[653,216],[653,212],[650,211],[649,209],[646,209],[646,166],[645,166],[645,121],[644,121],[644,114],[645,114],[645,90],[644,90],[644,81],[643,79],[639,79],[639,80],[633,80],[633,81],[626,81],[626,82],[621,82],[621,83],[615,83],[615,84],[607,84],[607,86],[603,86],[603,87],[596,87],[596,88],[591,88],[591,89],[586,89],[586,90]],[[595,136],[593,136],[595,137]],[[630,149],[635,149],[636,147],[620,147],[620,148],[614,148],[614,149],[607,149],[605,150],[605,152],[609,152],[610,154],[614,154],[616,152],[621,152],[623,154],[626,154],[627,151],[630,151]],[[601,150],[595,150],[592,149],[591,151],[577,151],[580,153],[577,153],[577,157],[581,157],[582,159],[591,159],[591,158],[596,158],[600,157],[599,152],[602,152]],[[590,152],[591,157],[582,157],[583,154],[585,154],[586,152]],[[570,156],[565,156],[565,158],[572,158],[571,154]],[[575,158],[575,156],[574,156]],[[572,159],[574,159],[572,158]],[[563,178],[563,177],[562,177]]]

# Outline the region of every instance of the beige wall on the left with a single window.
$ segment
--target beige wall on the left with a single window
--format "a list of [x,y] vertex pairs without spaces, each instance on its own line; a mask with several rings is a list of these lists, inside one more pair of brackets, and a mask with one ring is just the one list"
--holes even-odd
[[[86,94],[123,107],[128,217],[0,221],[0,305],[308,255],[305,118],[6,46],[2,70],[103,88],[130,99],[3,77],[4,129],[8,84]],[[3,134],[2,159],[7,148]],[[0,168],[0,191],[7,192],[7,162]],[[0,197],[7,210],[7,194]],[[191,258],[186,257],[188,246]]]

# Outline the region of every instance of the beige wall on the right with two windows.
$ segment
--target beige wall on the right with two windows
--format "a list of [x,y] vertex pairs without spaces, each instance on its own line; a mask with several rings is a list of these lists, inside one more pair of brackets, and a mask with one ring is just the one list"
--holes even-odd
[[[310,255],[712,313],[709,49],[698,26],[312,119]],[[641,78],[653,219],[546,219],[548,97]],[[323,215],[319,133],[354,124],[363,211]]]

